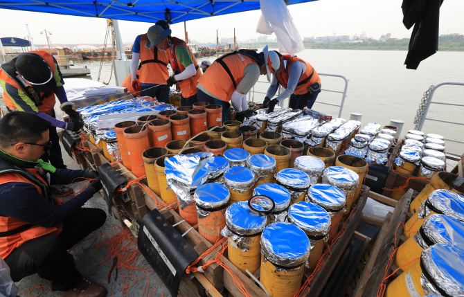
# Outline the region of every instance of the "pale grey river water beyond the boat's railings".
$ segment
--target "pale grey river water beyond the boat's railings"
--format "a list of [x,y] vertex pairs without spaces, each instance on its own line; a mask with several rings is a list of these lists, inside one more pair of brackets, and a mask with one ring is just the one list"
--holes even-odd
[[[348,91],[341,113],[349,119],[350,113],[363,114],[362,127],[370,122],[389,125],[390,119],[404,120],[402,136],[413,129],[414,117],[422,96],[432,84],[445,81],[464,81],[464,52],[438,52],[423,61],[418,70],[406,69],[404,59],[406,51],[350,51],[350,50],[305,50],[298,57],[310,62],[318,73],[344,75],[348,78]],[[213,62],[215,57],[208,57]],[[200,61],[203,59],[199,59]],[[97,80],[100,62],[84,62],[91,69],[91,79]],[[111,62],[102,65],[100,81],[107,82],[111,73]],[[120,79],[121,80],[121,79]],[[268,87],[265,76],[260,77],[254,91],[265,93]],[[266,82],[266,83],[265,83]],[[110,80],[115,84],[114,74]],[[121,83],[121,82],[120,82]],[[323,90],[343,91],[341,78],[321,76]],[[434,95],[436,102],[463,104],[464,87],[443,86]],[[265,95],[254,93],[254,100],[262,102]],[[318,103],[319,102],[319,103]],[[313,109],[337,117],[339,107],[323,105],[328,102],[339,105],[341,93],[322,91]],[[464,107],[432,104],[428,118],[437,118],[463,123]],[[438,123],[427,120],[422,129],[425,133],[435,133],[464,141],[464,126]],[[464,145],[447,141],[447,152],[461,155]]]

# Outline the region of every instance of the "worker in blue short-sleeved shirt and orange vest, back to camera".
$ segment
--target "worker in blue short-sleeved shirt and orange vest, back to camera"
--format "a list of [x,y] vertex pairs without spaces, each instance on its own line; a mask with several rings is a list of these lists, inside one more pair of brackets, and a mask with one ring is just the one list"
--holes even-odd
[[[136,93],[135,97],[148,96],[157,98],[159,102],[169,103],[169,87],[166,85],[169,78],[169,53],[166,48],[161,49],[150,43],[149,35],[153,34],[154,26],[148,28],[148,33],[137,36],[132,46],[132,89],[136,91],[141,84],[140,95]],[[137,67],[140,75],[137,75]]]

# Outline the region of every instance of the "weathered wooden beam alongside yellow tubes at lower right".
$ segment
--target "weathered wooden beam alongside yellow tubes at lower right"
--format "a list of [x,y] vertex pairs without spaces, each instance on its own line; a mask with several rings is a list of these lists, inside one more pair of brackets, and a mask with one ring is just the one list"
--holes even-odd
[[[377,289],[382,285],[385,271],[392,273],[397,267],[391,265],[387,267],[389,257],[394,249],[398,248],[406,237],[402,236],[403,225],[411,215],[408,212],[409,204],[416,198],[418,192],[409,189],[407,193],[398,201],[393,213],[386,215],[382,228],[377,234],[377,240],[373,245],[371,256],[362,271],[357,287],[354,291],[354,297],[372,297],[377,296]],[[395,238],[397,238],[395,243]],[[399,275],[402,271],[397,271]]]

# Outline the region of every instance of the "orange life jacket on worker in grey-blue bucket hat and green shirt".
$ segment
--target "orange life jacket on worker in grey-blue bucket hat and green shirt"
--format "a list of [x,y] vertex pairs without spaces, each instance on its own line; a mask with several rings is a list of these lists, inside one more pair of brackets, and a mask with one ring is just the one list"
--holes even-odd
[[195,69],[197,73],[195,75],[191,76],[190,78],[187,78],[186,80],[181,80],[179,82],[179,87],[181,88],[182,92],[182,97],[188,98],[197,93],[197,84],[199,78],[202,76],[202,71],[199,70],[199,66],[197,64],[197,59],[195,59],[195,55],[190,51],[190,48],[188,48],[186,42],[184,40],[181,40],[177,37],[171,37],[171,66],[172,66],[172,71],[174,74],[179,74],[182,71],[184,71],[186,68],[182,63],[179,63],[176,55],[176,48],[177,46],[184,46],[184,48],[187,48],[188,53],[190,53],[190,57],[192,57],[193,64],[195,65]]

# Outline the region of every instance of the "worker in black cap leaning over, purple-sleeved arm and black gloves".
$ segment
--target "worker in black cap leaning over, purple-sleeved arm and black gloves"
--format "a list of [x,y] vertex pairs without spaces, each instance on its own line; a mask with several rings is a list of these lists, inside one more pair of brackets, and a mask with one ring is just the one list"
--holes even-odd
[[[68,102],[63,76],[55,58],[46,51],[21,53],[1,64],[0,84],[8,111],[26,111],[51,123],[48,132],[52,145],[50,153],[44,154],[42,159],[50,161],[55,168],[66,168],[56,128],[76,132],[84,126],[84,122],[73,109],[73,103]],[[55,95],[61,102],[60,108],[69,115],[70,123],[55,118]]]

